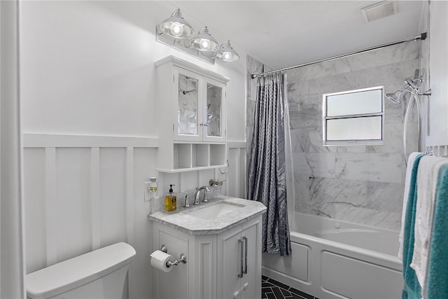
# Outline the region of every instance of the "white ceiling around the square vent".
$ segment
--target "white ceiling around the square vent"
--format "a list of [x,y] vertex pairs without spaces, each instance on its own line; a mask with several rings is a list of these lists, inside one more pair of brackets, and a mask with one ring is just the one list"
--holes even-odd
[[[379,1],[167,1],[195,32],[206,26],[274,69],[419,35],[423,1],[397,1],[398,13],[365,22],[361,8]],[[169,15],[167,15],[168,17]],[[166,18],[167,18],[166,17]]]

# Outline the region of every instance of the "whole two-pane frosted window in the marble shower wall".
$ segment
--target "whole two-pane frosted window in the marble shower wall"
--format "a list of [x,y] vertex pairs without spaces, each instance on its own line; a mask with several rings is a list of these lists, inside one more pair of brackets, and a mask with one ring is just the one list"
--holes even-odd
[[383,144],[383,87],[323,95],[323,145]]

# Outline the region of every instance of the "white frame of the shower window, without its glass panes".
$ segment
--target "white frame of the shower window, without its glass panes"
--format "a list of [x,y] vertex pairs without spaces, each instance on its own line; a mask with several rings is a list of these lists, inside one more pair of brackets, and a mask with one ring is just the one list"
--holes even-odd
[[[359,113],[359,114],[341,114],[338,116],[327,116],[327,98],[334,95],[351,94],[355,92],[365,92],[369,90],[381,90],[381,112]],[[340,139],[327,140],[327,120],[360,118],[380,116],[381,117],[381,139]],[[330,92],[322,95],[322,142],[323,146],[365,146],[365,145],[383,145],[384,144],[384,86],[374,86],[372,88],[361,88],[357,90],[346,90],[342,92]]]

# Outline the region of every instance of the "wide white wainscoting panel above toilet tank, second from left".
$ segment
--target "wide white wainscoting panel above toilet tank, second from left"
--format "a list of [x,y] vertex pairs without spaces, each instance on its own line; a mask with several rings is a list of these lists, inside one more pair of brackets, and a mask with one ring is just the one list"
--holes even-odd
[[[49,151],[49,148],[47,148]],[[48,263],[78,256],[92,249],[90,217],[90,148],[56,148],[55,176],[48,168],[46,197]],[[46,155],[46,158],[50,158]],[[52,158],[52,157],[51,157]],[[52,164],[47,160],[47,165]],[[25,182],[26,183],[26,182]]]

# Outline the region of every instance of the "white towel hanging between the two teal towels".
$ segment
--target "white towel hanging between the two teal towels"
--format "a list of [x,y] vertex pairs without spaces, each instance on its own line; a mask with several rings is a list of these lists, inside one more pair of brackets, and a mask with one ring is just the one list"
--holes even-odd
[[433,223],[437,174],[446,158],[431,155],[422,157],[417,172],[417,201],[414,225],[414,253],[411,267],[415,270],[421,289],[425,288],[426,265],[428,263],[429,239]]

